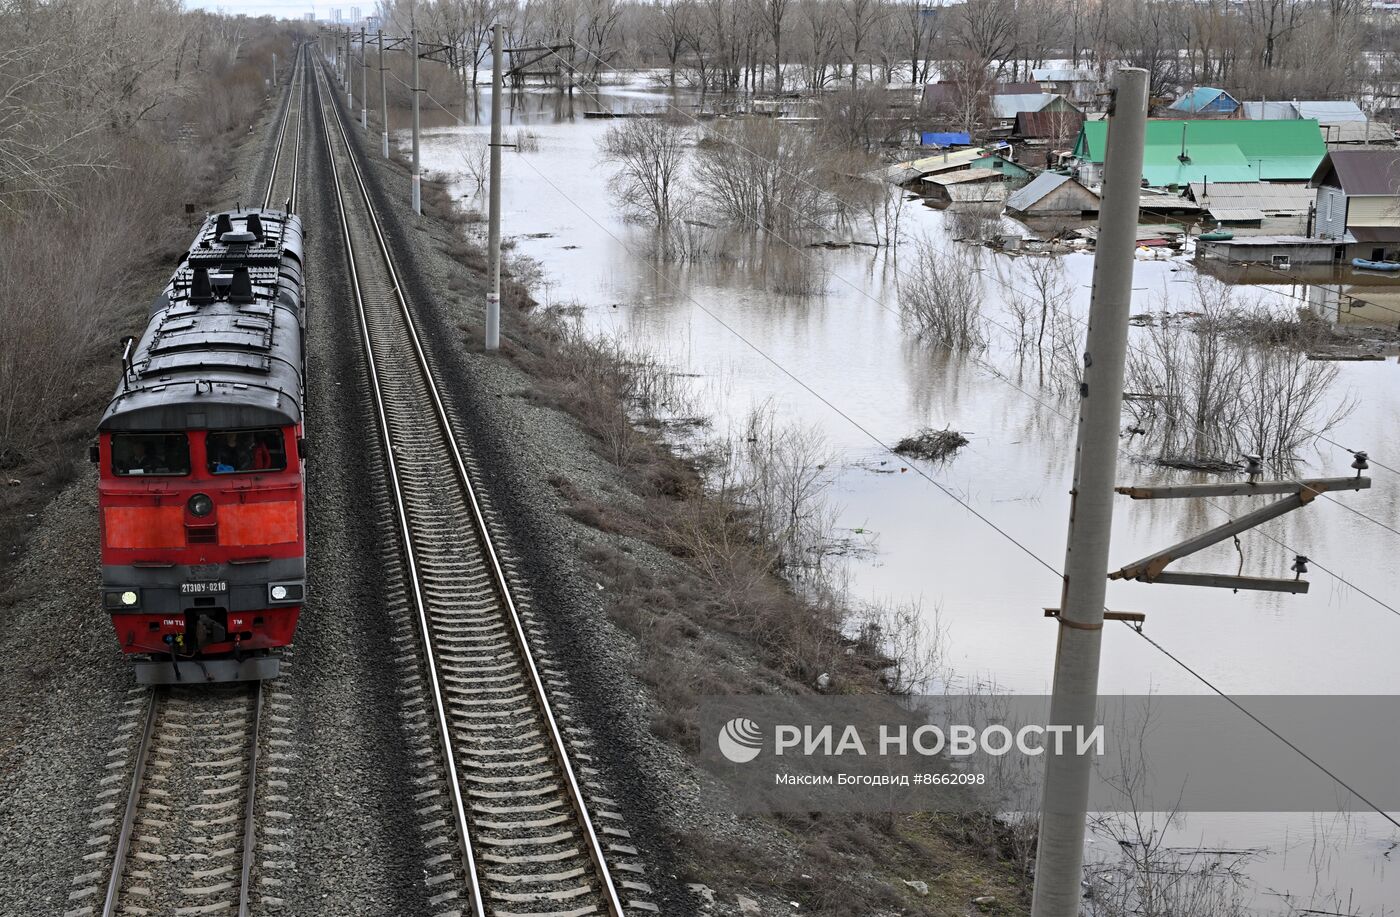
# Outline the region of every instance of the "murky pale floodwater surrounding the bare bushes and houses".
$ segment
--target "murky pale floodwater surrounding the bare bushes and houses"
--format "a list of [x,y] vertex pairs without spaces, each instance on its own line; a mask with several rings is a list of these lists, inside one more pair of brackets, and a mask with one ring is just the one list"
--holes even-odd
[[[423,140],[424,168],[456,176],[458,193],[480,197],[472,206],[482,211],[484,196],[465,178],[463,153],[469,141],[482,143],[490,101],[487,91],[477,98],[476,123],[431,127]],[[895,307],[909,245],[899,265],[869,248],[805,251],[813,269],[819,263],[829,272],[825,294],[813,297],[769,291],[762,272],[745,262],[650,259],[647,232],[615,209],[610,168],[598,154],[606,129],[620,122],[585,119],[582,112],[655,111],[664,101],[643,85],[598,97],[580,91],[571,101],[529,91],[510,99],[507,141],[524,129],[538,137],[538,150],[505,153],[504,234],[515,252],[543,266],[538,297],[577,304],[596,333],[650,349],[678,372],[694,374],[697,409],[714,417],[720,431],[763,402],[787,423],[820,430],[836,459],[829,493],[840,507],[840,533],[868,549],[848,560],[851,594],[862,601],[920,601],[925,616],[937,615],[946,661],[960,678],[991,679],[1019,693],[1047,692],[1057,629],[1042,609],[1058,603],[1060,580],[1037,559],[1051,568],[1064,559],[1075,399],[1039,388],[1033,372],[1018,378],[1015,358],[995,343],[995,329],[993,347],[977,360],[916,342]],[[449,120],[438,113],[440,123]],[[945,213],[913,199],[902,206],[906,239],[928,237],[944,249],[960,245],[949,241]],[[1005,323],[1004,284],[1023,284],[1025,259],[987,249],[979,258],[986,315]],[[1063,260],[1071,311],[1082,316],[1092,255]],[[1182,258],[1137,262],[1134,312],[1159,311],[1163,302],[1189,308],[1194,276]],[[1281,305],[1308,297],[1306,288],[1289,286],[1254,286],[1249,294]],[[1350,398],[1355,409],[1327,435],[1400,469],[1400,365],[1394,358],[1336,365],[1327,402]],[[934,465],[900,459],[875,442],[923,427],[960,430],[970,444],[949,463]],[[1134,462],[1133,452],[1128,444],[1120,482],[1201,480]],[[1347,451],[1315,441],[1298,454],[1294,475],[1350,475],[1350,463]],[[1145,612],[1147,634],[1232,694],[1394,693],[1400,610],[1387,606],[1400,606],[1400,535],[1348,507],[1400,528],[1400,476],[1379,466],[1371,475],[1369,491],[1317,500],[1243,536],[1246,574],[1288,577],[1295,553],[1310,557],[1308,595],[1112,582],[1109,608]],[[1249,508],[1245,498],[1218,503],[1121,498],[1113,564],[1224,522],[1226,507]],[[1226,542],[1179,566],[1235,573],[1238,564]],[[1110,624],[1100,690],[1208,689],[1127,626]],[[1292,752],[1280,746],[1280,753]],[[1400,832],[1379,816],[1359,815],[1191,816],[1173,834],[1173,843],[1193,847],[1261,848],[1249,868],[1259,913],[1310,906],[1394,914],[1400,879],[1390,857],[1397,840]],[[1113,853],[1112,844],[1099,848]]]

